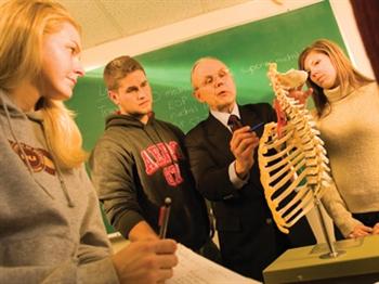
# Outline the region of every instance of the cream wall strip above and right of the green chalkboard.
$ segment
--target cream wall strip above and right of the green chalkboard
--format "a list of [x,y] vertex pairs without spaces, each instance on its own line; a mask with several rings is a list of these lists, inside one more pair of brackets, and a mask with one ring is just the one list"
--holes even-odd
[[[249,1],[87,49],[82,54],[83,65],[87,70],[91,70],[104,66],[108,61],[119,55],[139,55],[322,1],[284,0],[283,5],[269,0]],[[374,77],[374,72],[364,49],[350,1],[329,0],[329,2],[354,65],[364,74]]]

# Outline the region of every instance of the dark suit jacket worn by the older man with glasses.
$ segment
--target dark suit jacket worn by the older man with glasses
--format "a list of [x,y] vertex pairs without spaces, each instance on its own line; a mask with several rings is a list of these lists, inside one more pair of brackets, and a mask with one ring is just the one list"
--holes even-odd
[[[243,125],[248,126],[276,119],[266,103],[239,106],[239,114]],[[256,132],[261,137],[263,127]],[[230,151],[231,139],[231,131],[209,115],[187,133],[185,141],[197,189],[212,203],[224,266],[262,280],[262,270],[292,244],[273,222],[260,182],[257,151],[248,183],[241,189],[232,184],[228,166],[235,157]],[[311,240],[300,245],[315,243],[308,230]]]

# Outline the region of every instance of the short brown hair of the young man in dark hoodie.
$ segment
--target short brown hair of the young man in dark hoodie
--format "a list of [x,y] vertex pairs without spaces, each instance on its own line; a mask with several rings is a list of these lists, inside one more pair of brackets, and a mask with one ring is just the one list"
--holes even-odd
[[133,57],[123,55],[114,59],[104,68],[103,78],[106,88],[108,90],[116,90],[119,80],[135,70],[142,70],[145,73],[142,65]]

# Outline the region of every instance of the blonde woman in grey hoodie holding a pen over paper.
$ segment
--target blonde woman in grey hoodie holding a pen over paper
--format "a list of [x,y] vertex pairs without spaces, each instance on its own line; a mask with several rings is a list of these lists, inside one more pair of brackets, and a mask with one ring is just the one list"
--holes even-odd
[[78,24],[44,0],[12,0],[0,14],[0,282],[170,277],[173,241],[112,255],[81,137],[62,103],[84,73]]

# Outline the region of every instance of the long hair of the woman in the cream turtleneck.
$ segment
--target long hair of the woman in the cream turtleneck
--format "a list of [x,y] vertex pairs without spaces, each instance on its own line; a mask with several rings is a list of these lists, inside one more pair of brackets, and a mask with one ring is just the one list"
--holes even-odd
[[[331,64],[336,68],[337,80],[343,93],[348,92],[349,87],[360,88],[363,85],[375,81],[355,69],[342,49],[328,39],[318,39],[301,52],[298,61],[299,69],[304,69],[305,59],[313,51],[324,53],[330,59]],[[310,77],[306,85],[313,89],[312,96],[317,115],[322,116],[328,104],[324,90],[315,85]]]

